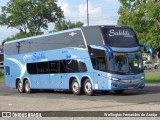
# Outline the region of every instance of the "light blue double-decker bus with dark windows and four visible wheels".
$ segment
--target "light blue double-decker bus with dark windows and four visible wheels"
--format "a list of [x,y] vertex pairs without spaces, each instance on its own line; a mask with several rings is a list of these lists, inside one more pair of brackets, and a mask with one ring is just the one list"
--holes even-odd
[[126,26],[86,26],[6,42],[5,84],[20,93],[52,89],[93,95],[141,89],[141,47],[153,54]]

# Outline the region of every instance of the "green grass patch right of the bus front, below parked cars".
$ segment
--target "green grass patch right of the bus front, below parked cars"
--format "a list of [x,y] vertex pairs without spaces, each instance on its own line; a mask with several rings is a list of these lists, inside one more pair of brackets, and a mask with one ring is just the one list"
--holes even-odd
[[146,72],[145,77],[147,83],[160,83],[160,71]]

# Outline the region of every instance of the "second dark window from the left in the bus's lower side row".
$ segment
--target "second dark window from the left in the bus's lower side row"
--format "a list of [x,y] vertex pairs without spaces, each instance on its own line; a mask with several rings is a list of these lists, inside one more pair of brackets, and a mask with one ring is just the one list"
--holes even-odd
[[37,63],[37,72],[38,74],[49,74],[48,62]]

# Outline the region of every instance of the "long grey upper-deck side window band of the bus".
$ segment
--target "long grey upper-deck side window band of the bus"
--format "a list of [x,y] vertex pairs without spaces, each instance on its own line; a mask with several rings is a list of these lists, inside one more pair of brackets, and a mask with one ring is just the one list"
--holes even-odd
[[5,44],[6,55],[16,55],[61,48],[86,48],[82,32],[75,30],[64,33],[53,33],[36,37],[25,38],[19,42]]

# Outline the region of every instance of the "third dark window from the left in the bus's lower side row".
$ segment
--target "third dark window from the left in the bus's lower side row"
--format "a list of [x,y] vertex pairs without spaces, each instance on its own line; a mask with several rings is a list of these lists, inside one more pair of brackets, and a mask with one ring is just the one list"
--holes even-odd
[[50,73],[58,73],[58,61],[49,62]]

